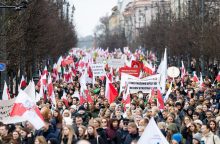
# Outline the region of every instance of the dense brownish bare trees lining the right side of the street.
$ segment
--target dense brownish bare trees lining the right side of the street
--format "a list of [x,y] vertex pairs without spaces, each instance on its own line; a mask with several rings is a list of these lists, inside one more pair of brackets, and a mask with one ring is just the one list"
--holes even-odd
[[205,70],[209,63],[220,60],[220,2],[216,0],[189,1],[187,9],[178,16],[161,12],[139,36],[147,48],[161,56],[164,48],[179,60],[194,57]]

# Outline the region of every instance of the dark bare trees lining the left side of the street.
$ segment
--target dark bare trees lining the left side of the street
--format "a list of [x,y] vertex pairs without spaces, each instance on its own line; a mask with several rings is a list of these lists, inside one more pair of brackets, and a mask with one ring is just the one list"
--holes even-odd
[[[6,0],[6,4],[14,5],[15,1]],[[48,60],[54,61],[76,46],[77,35],[69,15],[69,4],[65,0],[31,0],[24,10],[6,10],[5,40],[10,81],[21,74],[31,78]]]

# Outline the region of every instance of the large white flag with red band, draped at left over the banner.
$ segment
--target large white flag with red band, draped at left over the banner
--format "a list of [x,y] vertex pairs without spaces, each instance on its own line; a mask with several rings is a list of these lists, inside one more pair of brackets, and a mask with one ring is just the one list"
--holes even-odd
[[40,110],[34,100],[23,90],[20,90],[10,112],[10,116],[21,116],[27,119],[37,130],[44,126],[44,119]]

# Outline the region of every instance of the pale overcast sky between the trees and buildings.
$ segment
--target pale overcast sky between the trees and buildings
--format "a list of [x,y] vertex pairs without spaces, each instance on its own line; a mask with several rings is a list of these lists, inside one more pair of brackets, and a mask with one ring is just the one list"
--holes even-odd
[[117,0],[69,0],[75,5],[74,22],[79,37],[94,33],[99,18],[111,13]]

